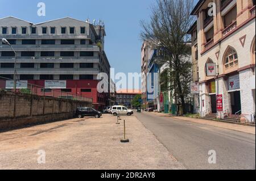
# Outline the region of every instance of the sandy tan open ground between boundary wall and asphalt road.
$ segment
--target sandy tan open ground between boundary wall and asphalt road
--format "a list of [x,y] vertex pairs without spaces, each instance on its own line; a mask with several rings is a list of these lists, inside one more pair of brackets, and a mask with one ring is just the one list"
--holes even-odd
[[[0,169],[185,169],[135,116],[71,119],[0,133]],[[46,163],[39,164],[39,150]]]

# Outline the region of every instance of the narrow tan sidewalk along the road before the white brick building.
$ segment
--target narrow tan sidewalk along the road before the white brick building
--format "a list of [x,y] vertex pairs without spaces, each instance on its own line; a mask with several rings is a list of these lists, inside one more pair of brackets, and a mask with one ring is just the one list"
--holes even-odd
[[234,131],[255,134],[255,127],[252,127],[250,125],[224,123],[221,121],[211,121],[211,120],[192,118],[192,117],[184,117],[184,116],[171,116],[170,114],[156,113],[156,112],[152,112],[152,113],[154,113],[155,115],[159,115],[160,117],[172,117],[177,120],[190,121],[193,123],[200,123],[200,124],[205,124],[205,125],[211,125],[213,127],[219,127],[219,128],[231,129]]

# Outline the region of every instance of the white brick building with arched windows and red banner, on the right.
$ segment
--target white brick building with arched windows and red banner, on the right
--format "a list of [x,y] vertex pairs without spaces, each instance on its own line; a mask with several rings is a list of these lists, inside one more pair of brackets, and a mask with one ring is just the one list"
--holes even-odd
[[[216,5],[213,15],[212,2]],[[200,115],[252,121],[255,0],[200,0],[192,15],[197,16],[197,33],[192,33],[192,40],[197,37]]]

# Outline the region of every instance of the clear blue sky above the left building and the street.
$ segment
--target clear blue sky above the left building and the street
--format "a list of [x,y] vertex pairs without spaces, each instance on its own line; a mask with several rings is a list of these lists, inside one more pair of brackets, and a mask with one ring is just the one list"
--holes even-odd
[[[37,15],[39,2],[46,4],[46,16]],[[140,21],[150,18],[154,3],[155,0],[0,0],[0,18],[15,16],[32,23],[67,16],[104,20],[105,52],[110,66],[115,68],[115,73],[141,73]]]

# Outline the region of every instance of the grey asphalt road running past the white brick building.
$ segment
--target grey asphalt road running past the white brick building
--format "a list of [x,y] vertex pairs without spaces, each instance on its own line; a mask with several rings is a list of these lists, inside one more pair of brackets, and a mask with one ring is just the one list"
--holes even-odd
[[[135,113],[187,169],[255,169],[255,135],[204,124]],[[209,164],[209,150],[216,164]]]

